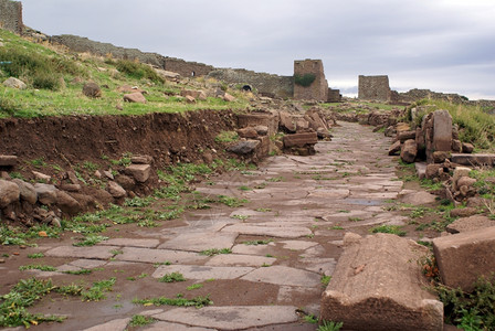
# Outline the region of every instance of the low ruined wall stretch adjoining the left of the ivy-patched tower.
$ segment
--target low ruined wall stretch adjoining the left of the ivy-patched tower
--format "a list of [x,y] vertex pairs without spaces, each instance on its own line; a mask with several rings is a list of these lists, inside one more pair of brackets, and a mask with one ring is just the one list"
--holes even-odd
[[268,97],[291,98],[294,95],[292,76],[278,76],[256,73],[246,70],[220,68],[211,72],[208,77],[231,84],[246,84],[260,94]]

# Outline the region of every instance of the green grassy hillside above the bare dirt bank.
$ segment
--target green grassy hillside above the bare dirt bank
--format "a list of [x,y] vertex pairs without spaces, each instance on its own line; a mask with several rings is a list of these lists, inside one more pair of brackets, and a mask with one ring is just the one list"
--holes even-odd
[[[140,115],[154,111],[187,111],[196,109],[243,109],[247,96],[240,90],[228,90],[236,97],[228,103],[209,97],[204,102],[187,104],[178,96],[182,88],[208,89],[222,87],[215,81],[186,78],[179,83],[158,76],[148,65],[133,61],[72,54],[49,44],[38,44],[0,30],[0,82],[13,76],[28,84],[24,90],[0,85],[0,117],[39,117],[61,115]],[[85,82],[102,86],[97,99],[82,94]],[[127,104],[123,85],[138,86],[148,94],[148,103]],[[123,110],[116,108],[119,105]]]

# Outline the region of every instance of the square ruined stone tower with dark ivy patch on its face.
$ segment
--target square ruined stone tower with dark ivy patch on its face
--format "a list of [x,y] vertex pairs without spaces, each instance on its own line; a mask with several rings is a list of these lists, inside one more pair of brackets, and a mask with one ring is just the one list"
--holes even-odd
[[294,84],[294,99],[326,102],[328,98],[328,82],[325,79],[322,60],[294,61],[294,76],[306,74],[314,74],[316,78],[307,87]]

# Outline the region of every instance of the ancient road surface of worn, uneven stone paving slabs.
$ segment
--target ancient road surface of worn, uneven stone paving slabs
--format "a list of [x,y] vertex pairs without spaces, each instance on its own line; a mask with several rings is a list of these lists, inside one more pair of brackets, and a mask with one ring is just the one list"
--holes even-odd
[[[249,200],[242,206],[189,211],[179,226],[145,228],[87,248],[40,246],[61,270],[115,269],[120,284],[96,306],[77,303],[71,312],[45,305],[42,312],[70,318],[43,328],[124,330],[130,317],[140,313],[158,320],[143,330],[316,330],[302,316],[318,316],[322,278],[334,271],[344,233],[367,234],[378,224],[406,221],[383,207],[402,190],[394,174],[397,160],[387,156],[390,141],[370,127],[340,125],[334,128],[333,141],[316,146],[316,156],[273,157],[256,171],[224,174],[197,189],[204,195]],[[255,241],[259,245],[247,245]],[[211,248],[232,253],[198,254]],[[154,266],[165,261],[171,264]],[[147,277],[126,282],[119,273],[127,268]],[[181,273],[188,282],[157,281],[170,273]],[[56,273],[36,273],[42,275]],[[202,288],[187,290],[192,284]],[[179,292],[187,298],[210,295],[214,305],[196,309],[130,303],[133,298]],[[78,309],[84,314],[74,311]]]

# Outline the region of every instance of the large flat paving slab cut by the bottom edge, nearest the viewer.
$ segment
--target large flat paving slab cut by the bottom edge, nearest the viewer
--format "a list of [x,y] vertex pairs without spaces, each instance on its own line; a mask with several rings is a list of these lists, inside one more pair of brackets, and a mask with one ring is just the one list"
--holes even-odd
[[176,308],[155,314],[154,318],[168,322],[219,330],[244,330],[247,328],[296,322],[298,320],[296,309],[296,307],[292,306]]

